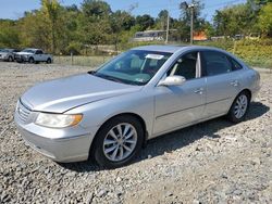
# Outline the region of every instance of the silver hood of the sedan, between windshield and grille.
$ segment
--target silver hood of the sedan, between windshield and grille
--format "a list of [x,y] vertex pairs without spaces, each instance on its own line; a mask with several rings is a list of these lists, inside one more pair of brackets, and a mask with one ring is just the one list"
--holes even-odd
[[33,111],[63,113],[83,104],[139,91],[140,86],[114,82],[90,74],[38,84],[21,101]]

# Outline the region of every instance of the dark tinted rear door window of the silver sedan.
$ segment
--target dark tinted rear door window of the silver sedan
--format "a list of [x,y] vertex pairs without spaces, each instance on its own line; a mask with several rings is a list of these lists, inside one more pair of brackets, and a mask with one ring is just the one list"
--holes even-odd
[[206,76],[214,76],[232,72],[232,63],[227,56],[217,51],[202,52],[202,66]]

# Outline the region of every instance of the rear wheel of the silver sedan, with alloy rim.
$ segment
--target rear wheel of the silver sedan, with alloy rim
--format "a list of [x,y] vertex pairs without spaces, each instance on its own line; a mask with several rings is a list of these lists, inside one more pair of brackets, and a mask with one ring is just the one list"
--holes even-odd
[[245,119],[250,105],[250,95],[247,91],[242,91],[234,100],[227,118],[233,123],[239,123]]

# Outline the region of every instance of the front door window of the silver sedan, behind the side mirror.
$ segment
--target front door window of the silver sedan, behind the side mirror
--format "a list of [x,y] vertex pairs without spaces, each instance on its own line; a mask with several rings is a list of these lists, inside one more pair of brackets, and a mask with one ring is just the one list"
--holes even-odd
[[168,76],[183,76],[188,79],[196,78],[197,52],[190,52],[181,56],[175,64],[168,71]]

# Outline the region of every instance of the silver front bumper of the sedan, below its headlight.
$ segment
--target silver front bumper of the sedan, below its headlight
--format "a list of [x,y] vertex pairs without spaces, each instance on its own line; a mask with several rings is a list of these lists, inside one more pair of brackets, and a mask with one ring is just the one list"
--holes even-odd
[[[35,113],[34,113],[35,114]],[[33,116],[29,116],[33,117]],[[15,124],[26,144],[57,162],[86,161],[96,128],[85,129],[81,126],[54,129],[23,122],[15,112]]]

